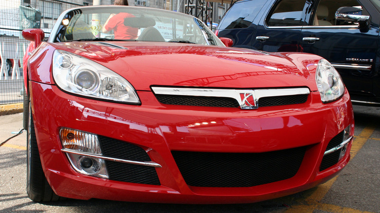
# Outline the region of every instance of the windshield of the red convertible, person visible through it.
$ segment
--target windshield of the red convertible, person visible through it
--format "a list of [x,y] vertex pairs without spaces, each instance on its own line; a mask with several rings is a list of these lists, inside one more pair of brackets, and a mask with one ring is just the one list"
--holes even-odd
[[54,42],[126,40],[223,46],[199,19],[152,8],[82,7],[67,11],[58,23]]

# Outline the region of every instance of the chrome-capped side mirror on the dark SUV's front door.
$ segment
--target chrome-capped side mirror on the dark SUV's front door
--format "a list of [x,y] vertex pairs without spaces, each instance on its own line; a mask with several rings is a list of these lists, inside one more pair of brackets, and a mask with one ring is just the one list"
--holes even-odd
[[361,32],[368,32],[370,16],[361,15],[361,8],[340,7],[335,13],[335,18],[340,21],[358,22]]

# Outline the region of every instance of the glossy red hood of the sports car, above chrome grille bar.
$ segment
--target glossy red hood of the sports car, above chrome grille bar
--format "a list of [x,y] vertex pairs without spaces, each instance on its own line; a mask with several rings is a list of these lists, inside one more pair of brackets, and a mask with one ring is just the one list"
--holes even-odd
[[52,44],[117,72],[136,90],[155,86],[213,88],[309,87],[317,90],[320,56],[165,42]]

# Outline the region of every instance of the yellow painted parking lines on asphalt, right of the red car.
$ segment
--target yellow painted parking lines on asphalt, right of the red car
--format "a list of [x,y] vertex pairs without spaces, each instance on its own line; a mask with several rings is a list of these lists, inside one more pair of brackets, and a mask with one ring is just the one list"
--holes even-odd
[[[372,133],[375,131],[374,126],[367,126],[365,127],[359,136],[356,136],[354,138],[354,141],[352,142],[351,146],[351,159],[353,159],[356,154],[359,152],[361,147],[363,147],[364,143],[370,139]],[[319,203],[323,197],[327,194],[327,192],[330,190],[331,186],[335,182],[338,176],[332,178],[331,180],[317,186],[316,190],[313,192],[311,195],[304,195],[304,197],[301,197],[299,200],[300,201],[306,201],[308,204],[306,205],[297,205],[297,206],[292,206],[290,207],[285,213],[313,213],[314,210],[324,210],[328,212],[333,212],[333,213],[361,213],[359,210],[355,209],[349,209],[349,208],[343,208],[339,206],[334,206],[331,204],[324,204],[324,203]],[[349,211],[348,211],[349,210]]]

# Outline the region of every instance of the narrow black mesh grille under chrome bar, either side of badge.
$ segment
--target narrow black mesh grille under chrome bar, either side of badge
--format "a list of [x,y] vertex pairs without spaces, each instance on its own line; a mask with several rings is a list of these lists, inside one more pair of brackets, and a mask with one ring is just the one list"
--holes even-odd
[[[239,103],[233,98],[160,94],[155,96],[160,103],[168,105],[239,107]],[[259,99],[258,105],[260,107],[302,104],[307,101],[307,96],[308,94],[264,97]]]

